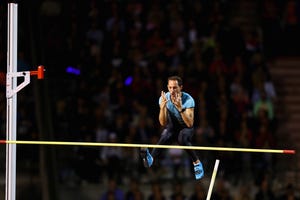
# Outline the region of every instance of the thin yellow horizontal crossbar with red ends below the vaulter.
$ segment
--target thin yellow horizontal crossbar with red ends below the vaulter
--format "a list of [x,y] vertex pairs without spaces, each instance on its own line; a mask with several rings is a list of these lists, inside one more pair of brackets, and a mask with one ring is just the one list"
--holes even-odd
[[251,149],[231,147],[207,147],[207,146],[181,146],[181,145],[155,145],[155,144],[127,144],[127,143],[101,143],[101,142],[64,142],[64,141],[27,141],[27,140],[0,140],[0,144],[32,144],[32,145],[64,145],[64,146],[106,146],[106,147],[140,147],[140,148],[165,148],[165,149],[193,149],[207,151],[237,151],[256,153],[282,153],[295,154],[292,149]]

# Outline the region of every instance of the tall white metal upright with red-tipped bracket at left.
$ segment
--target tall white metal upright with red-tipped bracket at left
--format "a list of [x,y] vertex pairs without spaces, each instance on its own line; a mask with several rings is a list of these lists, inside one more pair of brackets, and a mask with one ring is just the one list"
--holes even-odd
[[[8,3],[8,41],[7,41],[7,74],[6,74],[6,139],[17,140],[17,92],[30,83],[30,76],[44,78],[44,67],[38,66],[37,71],[18,72],[18,5]],[[23,82],[17,83],[18,77]],[[5,200],[16,199],[16,144],[6,145],[6,185]]]

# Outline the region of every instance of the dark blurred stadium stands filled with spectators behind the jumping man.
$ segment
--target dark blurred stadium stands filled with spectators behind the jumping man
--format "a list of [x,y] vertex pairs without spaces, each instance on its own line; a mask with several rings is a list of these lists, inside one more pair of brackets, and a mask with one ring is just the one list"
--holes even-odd
[[[7,1],[0,2],[4,139]],[[18,93],[18,139],[155,143],[157,99],[167,76],[178,74],[197,104],[195,145],[299,149],[299,1],[17,3],[18,71],[46,68],[44,80]],[[143,199],[157,192],[153,185],[175,198],[178,182],[185,193],[178,198],[192,199],[194,187],[206,191],[216,158],[215,199],[259,199],[265,185],[276,198],[299,189],[297,154],[199,151],[207,172],[200,184],[182,151],[166,151],[151,170],[137,149],[20,145],[17,154],[22,200],[100,199],[111,179],[124,194],[138,180]]]

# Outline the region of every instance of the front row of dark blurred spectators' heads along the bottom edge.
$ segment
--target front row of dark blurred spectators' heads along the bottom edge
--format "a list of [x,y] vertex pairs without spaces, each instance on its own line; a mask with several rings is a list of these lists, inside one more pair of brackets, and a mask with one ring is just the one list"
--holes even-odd
[[[150,185],[150,191],[145,194],[143,188],[140,185],[140,181],[132,179],[129,182],[129,186],[126,189],[119,187],[114,180],[110,180],[107,183],[107,188],[101,193],[99,200],[115,199],[115,200],[204,200],[207,199],[207,189],[202,182],[194,182],[190,186],[190,192],[186,191],[184,182],[175,181],[172,182],[170,191],[166,192],[166,185],[160,182],[152,182]],[[217,200],[287,200],[287,199],[299,199],[296,196],[296,190],[292,185],[287,185],[280,192],[273,192],[270,189],[270,181],[267,177],[262,179],[258,185],[257,190],[252,191],[249,184],[241,185],[241,187],[232,192],[228,187],[228,183],[224,180],[217,180],[214,192],[211,194],[212,199]]]

